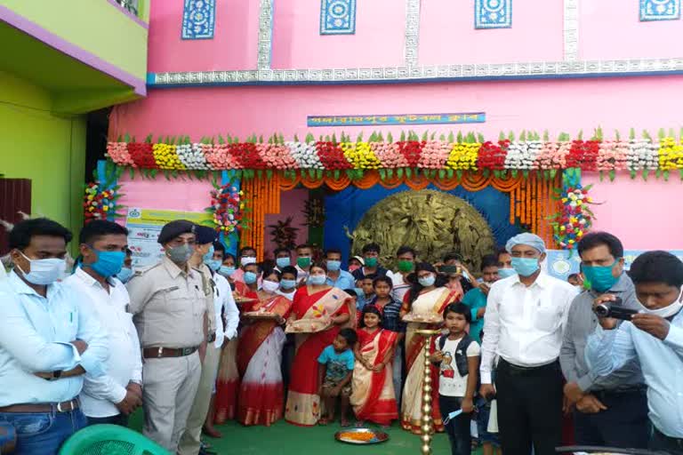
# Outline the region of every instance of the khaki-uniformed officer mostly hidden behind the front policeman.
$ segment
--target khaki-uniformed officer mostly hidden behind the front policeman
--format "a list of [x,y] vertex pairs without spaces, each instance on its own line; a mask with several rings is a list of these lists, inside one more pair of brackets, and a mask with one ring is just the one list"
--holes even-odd
[[217,235],[213,228],[205,226],[197,226],[196,234],[197,246],[192,258],[189,259],[189,265],[202,272],[207,305],[206,314],[208,315],[206,318],[208,323],[207,333],[209,335],[206,339],[206,354],[204,363],[202,363],[202,376],[199,379],[199,388],[197,389],[192,410],[189,412],[185,432],[178,446],[178,453],[181,455],[197,455],[197,453],[202,453],[200,451],[202,427],[204,426],[206,414],[209,411],[209,403],[211,403],[211,395],[218,372],[218,361],[221,358],[221,349],[214,346],[214,341],[216,340],[216,317],[220,318],[221,314],[216,315],[216,308],[213,304],[215,284],[213,283],[211,270],[205,265],[205,259],[213,260],[213,242],[216,241]]

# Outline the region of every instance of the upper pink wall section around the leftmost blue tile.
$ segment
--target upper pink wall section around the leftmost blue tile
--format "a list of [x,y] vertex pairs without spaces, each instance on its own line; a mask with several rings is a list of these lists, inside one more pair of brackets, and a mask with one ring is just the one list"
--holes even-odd
[[256,68],[259,2],[218,0],[211,40],[183,40],[182,1],[156,1],[149,12],[149,71]]

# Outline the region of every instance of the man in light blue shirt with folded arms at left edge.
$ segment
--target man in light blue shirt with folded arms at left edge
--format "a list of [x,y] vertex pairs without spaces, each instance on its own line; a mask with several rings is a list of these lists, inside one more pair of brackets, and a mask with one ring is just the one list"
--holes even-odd
[[17,455],[56,454],[85,426],[76,399],[84,374],[100,377],[108,339],[82,295],[56,283],[71,233],[46,219],[10,232],[14,269],[0,284],[0,421],[13,425]]

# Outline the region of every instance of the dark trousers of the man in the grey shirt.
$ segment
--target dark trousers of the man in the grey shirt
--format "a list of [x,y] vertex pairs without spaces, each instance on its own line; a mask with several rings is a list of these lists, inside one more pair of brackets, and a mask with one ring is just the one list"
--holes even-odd
[[594,395],[607,406],[607,411],[574,412],[576,445],[647,449],[650,439],[647,392],[596,392]]

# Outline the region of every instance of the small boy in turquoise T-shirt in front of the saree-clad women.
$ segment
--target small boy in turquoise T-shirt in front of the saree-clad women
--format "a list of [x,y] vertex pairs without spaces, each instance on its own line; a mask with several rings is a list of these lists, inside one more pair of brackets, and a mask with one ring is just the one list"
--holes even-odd
[[349,427],[349,419],[346,415],[349,411],[349,396],[351,395],[353,345],[357,340],[356,331],[349,328],[342,329],[333,343],[325,347],[322,354],[317,357],[317,383],[320,384],[318,395],[321,400],[325,400],[327,411],[327,417],[321,417],[318,421],[320,425],[327,425],[334,421],[334,407],[339,397],[342,408],[340,418],[342,427]]

